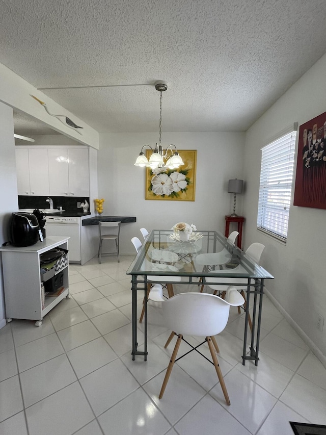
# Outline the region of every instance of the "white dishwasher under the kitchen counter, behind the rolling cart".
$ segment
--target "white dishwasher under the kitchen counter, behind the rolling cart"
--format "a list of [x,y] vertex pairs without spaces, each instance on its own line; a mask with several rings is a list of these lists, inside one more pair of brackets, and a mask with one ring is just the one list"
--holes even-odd
[[78,262],[82,259],[80,244],[80,218],[46,216],[46,236],[70,237],[68,240],[69,262]]

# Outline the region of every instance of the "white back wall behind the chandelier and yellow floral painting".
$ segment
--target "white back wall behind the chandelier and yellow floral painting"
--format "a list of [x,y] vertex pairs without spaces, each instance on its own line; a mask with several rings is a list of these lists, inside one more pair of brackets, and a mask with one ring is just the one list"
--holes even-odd
[[[224,232],[225,215],[233,210],[227,192],[229,178],[242,177],[243,133],[164,133],[162,144],[178,149],[197,149],[196,200],[145,200],[145,168],[134,166],[141,147],[155,145],[157,133],[100,133],[98,151],[98,195],[104,198],[104,215],[136,216],[123,224],[121,253],[134,254],[130,242],[141,238],[139,229],[171,228],[185,221],[198,229]],[[237,211],[241,212],[241,195]],[[238,213],[238,214],[239,214]]]

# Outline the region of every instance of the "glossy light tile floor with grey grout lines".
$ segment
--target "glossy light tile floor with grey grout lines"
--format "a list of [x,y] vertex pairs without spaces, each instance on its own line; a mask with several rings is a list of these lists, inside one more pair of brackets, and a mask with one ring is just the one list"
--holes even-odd
[[293,435],[289,421],[326,424],[326,370],[266,296],[258,367],[241,364],[243,314],[231,309],[216,337],[231,406],[196,352],[176,363],[158,400],[173,345],[164,349],[170,331],[149,302],[148,361],[131,360],[131,261],[71,265],[72,297],[40,327],[13,320],[0,330],[1,434]]

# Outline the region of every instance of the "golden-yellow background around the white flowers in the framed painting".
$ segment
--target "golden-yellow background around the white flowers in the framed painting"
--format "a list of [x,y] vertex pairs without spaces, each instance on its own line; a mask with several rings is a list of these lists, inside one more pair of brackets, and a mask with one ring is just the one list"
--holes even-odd
[[[184,165],[180,166],[180,168],[175,171],[170,171],[167,169],[165,173],[170,174],[172,172],[183,172],[188,171],[186,177],[189,178],[189,183],[185,192],[177,192],[178,197],[174,195],[164,195],[159,196],[155,195],[151,190],[151,179],[154,174],[151,173],[150,168],[146,168],[146,191],[145,191],[145,199],[156,199],[161,201],[195,201],[195,193],[196,193],[196,165],[197,165],[197,150],[196,149],[181,149],[178,150],[179,155],[181,156]],[[150,158],[151,150],[146,150],[147,159]]]

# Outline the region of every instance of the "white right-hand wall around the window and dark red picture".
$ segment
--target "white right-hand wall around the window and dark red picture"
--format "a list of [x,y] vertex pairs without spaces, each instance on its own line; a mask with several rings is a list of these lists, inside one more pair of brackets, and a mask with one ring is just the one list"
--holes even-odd
[[326,210],[291,206],[286,245],[259,232],[256,222],[260,148],[293,122],[301,125],[326,111],[325,71],[326,55],[249,129],[244,153],[246,245],[257,241],[266,246],[262,266],[275,275],[266,283],[267,289],[317,346],[322,360],[326,355],[326,324],[323,331],[317,329],[317,313],[326,319]]

